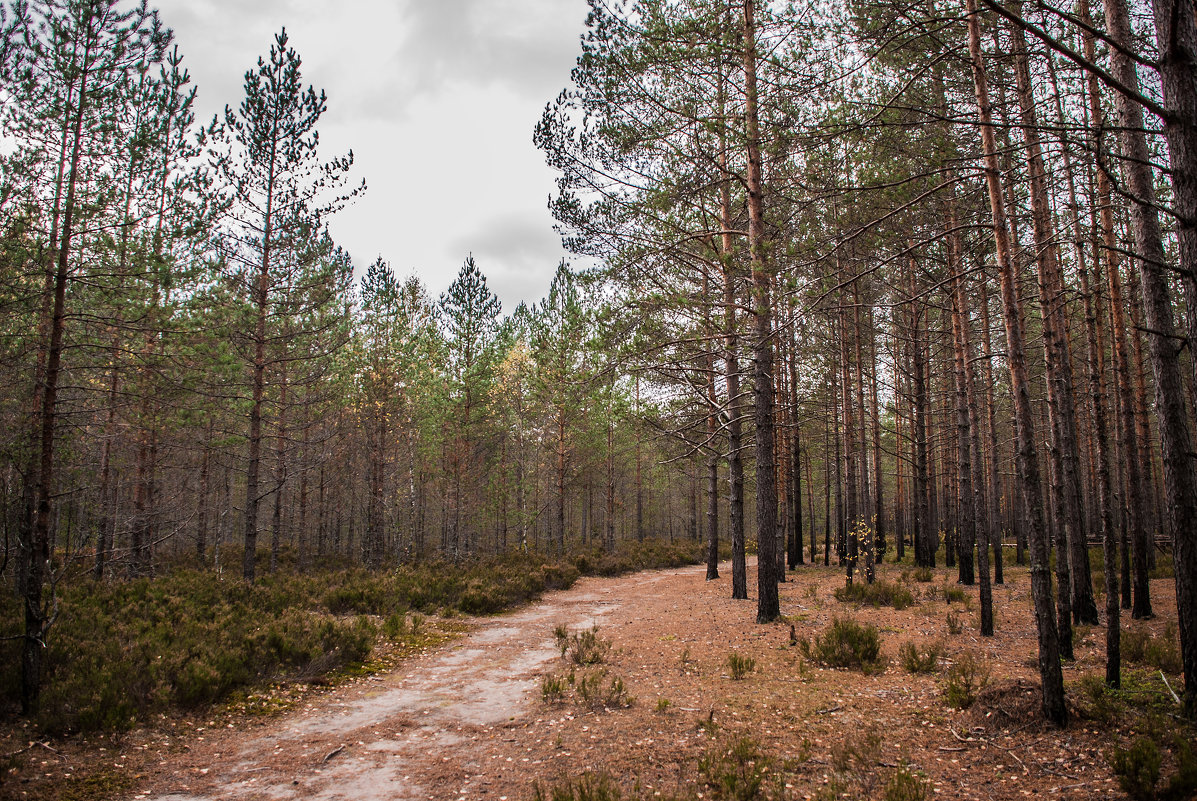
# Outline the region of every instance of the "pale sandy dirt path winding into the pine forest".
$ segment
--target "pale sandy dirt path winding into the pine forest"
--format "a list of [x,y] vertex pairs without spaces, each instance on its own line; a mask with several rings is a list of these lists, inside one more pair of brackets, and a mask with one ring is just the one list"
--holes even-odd
[[529,758],[508,754],[543,709],[539,675],[559,656],[553,627],[606,627],[614,613],[676,599],[704,576],[697,565],[583,578],[514,613],[470,619],[462,637],[261,728],[193,738],[135,797],[505,799],[500,790],[527,788],[518,763]]

